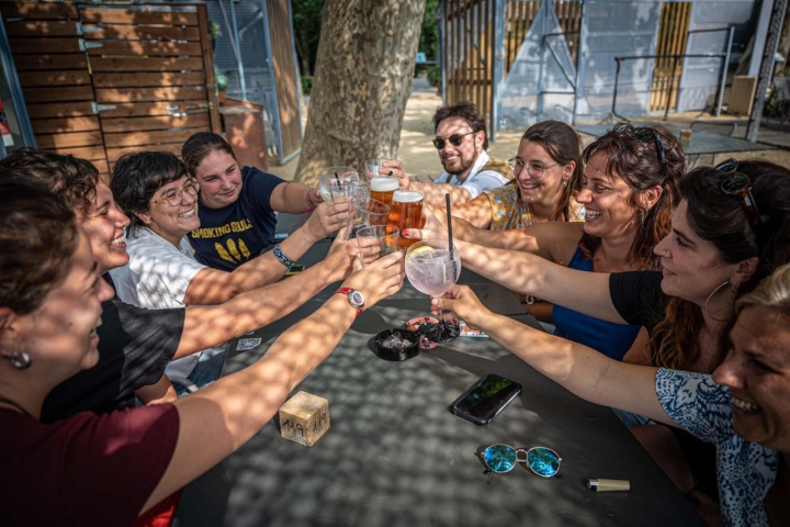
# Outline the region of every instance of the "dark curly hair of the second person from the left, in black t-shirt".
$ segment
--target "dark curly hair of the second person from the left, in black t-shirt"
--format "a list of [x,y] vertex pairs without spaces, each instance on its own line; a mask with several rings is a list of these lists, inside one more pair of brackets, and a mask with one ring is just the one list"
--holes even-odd
[[40,181],[82,217],[93,209],[99,170],[90,161],[25,147],[0,160],[0,170],[13,170],[20,177]]

